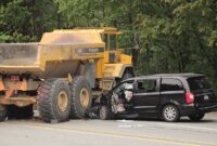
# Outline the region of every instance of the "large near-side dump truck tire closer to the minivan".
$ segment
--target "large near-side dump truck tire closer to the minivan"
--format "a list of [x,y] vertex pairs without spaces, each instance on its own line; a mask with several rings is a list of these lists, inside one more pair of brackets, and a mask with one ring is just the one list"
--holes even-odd
[[72,106],[69,118],[85,118],[92,105],[92,93],[88,80],[78,76],[71,83]]

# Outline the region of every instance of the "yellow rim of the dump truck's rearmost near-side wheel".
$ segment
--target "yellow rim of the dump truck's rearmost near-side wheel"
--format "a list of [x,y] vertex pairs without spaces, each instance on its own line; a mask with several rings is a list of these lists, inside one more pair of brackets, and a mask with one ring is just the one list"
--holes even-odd
[[61,91],[58,97],[58,106],[61,111],[65,111],[68,105],[68,95],[65,91]]

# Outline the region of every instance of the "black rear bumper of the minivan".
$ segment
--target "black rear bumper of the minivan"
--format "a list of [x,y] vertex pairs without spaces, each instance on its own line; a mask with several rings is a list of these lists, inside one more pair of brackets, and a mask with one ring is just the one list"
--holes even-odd
[[194,104],[189,104],[189,105],[182,105],[180,107],[180,114],[181,116],[190,116],[190,115],[195,115],[200,112],[210,112],[210,111],[217,111],[217,104],[214,104],[212,106],[206,106],[206,107],[195,107]]

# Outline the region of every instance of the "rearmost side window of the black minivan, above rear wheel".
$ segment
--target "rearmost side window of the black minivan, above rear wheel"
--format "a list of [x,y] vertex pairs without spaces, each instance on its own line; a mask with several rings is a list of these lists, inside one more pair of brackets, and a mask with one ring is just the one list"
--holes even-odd
[[178,79],[162,79],[161,91],[183,91],[183,84]]

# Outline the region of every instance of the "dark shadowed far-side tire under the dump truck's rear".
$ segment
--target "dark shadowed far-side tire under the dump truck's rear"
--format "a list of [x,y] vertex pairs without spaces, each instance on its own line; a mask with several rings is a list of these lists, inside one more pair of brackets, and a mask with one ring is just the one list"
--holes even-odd
[[16,105],[8,106],[9,119],[30,119],[34,116],[33,105],[17,107]]

